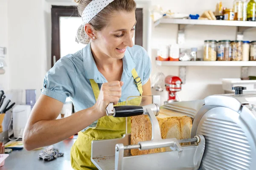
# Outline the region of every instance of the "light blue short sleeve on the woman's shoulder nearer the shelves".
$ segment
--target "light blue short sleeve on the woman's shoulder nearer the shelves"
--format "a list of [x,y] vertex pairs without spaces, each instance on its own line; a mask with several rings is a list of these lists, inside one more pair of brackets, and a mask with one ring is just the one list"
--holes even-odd
[[142,85],[145,85],[148,82],[148,79],[150,77],[150,74],[151,74],[151,71],[152,71],[152,65],[151,65],[151,60],[148,56],[147,51],[143,48],[142,52],[143,52],[143,60],[144,60]]

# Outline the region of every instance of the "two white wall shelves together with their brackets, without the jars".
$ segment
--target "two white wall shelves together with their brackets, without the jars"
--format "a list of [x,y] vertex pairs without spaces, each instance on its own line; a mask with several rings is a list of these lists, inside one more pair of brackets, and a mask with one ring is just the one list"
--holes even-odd
[[[229,21],[229,20],[191,20],[191,19],[172,19],[163,17],[154,22],[154,27],[161,24],[177,24],[178,36],[177,44],[185,42],[184,31],[186,27],[193,25],[204,26],[236,26],[236,40],[243,40],[244,31],[256,28],[256,22],[253,21]],[[179,66],[179,77],[183,83],[186,82],[186,66],[240,66],[241,77],[248,77],[248,67],[256,66],[254,61],[188,61],[188,62],[170,62],[156,61],[157,65]]]

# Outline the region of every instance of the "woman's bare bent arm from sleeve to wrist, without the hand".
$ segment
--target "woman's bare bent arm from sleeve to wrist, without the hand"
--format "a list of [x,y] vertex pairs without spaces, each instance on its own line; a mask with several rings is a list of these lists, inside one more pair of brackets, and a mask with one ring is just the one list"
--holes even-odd
[[66,118],[56,119],[62,107],[62,102],[43,94],[40,96],[32,109],[23,134],[26,150],[67,139],[100,117],[94,108],[88,108]]

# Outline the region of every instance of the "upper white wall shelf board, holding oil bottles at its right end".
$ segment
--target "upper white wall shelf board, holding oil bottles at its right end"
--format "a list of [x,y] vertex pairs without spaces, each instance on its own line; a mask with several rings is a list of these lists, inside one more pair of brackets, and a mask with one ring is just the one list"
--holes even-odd
[[154,26],[158,26],[159,24],[256,27],[256,22],[253,22],[253,21],[191,20],[191,19],[172,19],[172,18],[162,18],[154,22]]

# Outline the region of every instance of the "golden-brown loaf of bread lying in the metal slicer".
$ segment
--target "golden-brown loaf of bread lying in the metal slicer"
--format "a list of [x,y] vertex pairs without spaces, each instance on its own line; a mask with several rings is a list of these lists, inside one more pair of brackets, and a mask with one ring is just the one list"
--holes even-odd
[[[169,110],[160,109],[157,120],[160,126],[162,139],[177,138],[179,140],[190,138],[192,128],[192,119],[190,117],[183,116],[182,114]],[[150,141],[152,137],[151,128],[151,122],[147,115],[131,117],[131,144],[138,144],[138,142],[142,141]],[[170,147],[150,150],[132,149],[131,155],[145,155],[149,153],[160,153],[166,151],[171,151]]]

